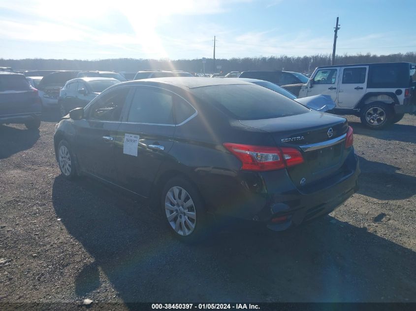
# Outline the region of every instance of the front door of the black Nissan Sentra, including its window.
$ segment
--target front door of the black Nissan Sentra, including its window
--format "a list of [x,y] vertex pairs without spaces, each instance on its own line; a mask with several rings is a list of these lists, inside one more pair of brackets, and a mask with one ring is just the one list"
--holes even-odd
[[124,86],[103,93],[86,109],[84,119],[74,121],[81,170],[112,183],[117,183],[117,130],[130,89]]

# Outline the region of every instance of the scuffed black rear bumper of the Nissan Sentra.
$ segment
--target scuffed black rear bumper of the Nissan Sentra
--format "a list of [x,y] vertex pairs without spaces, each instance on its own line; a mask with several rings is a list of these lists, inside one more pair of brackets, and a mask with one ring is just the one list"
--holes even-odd
[[[240,189],[237,184],[228,183],[223,196],[225,203],[221,195],[215,197],[215,213],[262,222],[276,231],[298,226],[330,213],[358,190],[360,169],[358,158],[353,152],[348,162],[348,171],[337,173],[322,183],[302,190],[296,188],[286,170],[263,172],[259,178],[254,173],[252,176],[247,173],[241,178],[243,180],[239,184],[243,187]],[[221,194],[218,188],[216,193]]]

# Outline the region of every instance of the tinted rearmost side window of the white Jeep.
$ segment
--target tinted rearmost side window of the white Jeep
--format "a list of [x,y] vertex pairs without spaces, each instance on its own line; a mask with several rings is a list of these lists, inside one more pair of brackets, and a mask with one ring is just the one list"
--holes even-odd
[[380,64],[370,65],[368,70],[368,88],[396,88],[409,87],[409,64]]

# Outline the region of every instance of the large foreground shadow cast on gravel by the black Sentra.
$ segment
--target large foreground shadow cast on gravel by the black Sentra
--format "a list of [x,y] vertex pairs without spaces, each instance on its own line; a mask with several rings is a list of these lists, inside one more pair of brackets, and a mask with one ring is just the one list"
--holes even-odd
[[87,295],[100,267],[125,302],[415,300],[416,254],[325,217],[280,234],[224,228],[186,245],[158,213],[97,184],[56,177],[53,205],[68,232],[95,258],[75,280]]

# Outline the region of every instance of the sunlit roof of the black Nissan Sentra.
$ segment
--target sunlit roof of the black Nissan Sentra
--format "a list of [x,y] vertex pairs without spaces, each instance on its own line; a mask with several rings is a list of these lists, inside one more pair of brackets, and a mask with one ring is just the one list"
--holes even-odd
[[118,84],[122,85],[140,85],[143,83],[163,83],[173,86],[178,86],[182,88],[196,88],[203,86],[212,86],[212,85],[237,85],[237,84],[250,84],[243,81],[242,79],[217,79],[217,78],[203,78],[203,77],[165,77],[165,78],[152,78],[152,79],[142,79],[123,82]]

